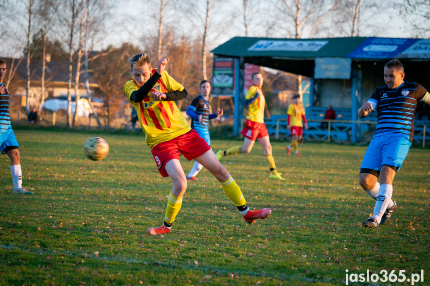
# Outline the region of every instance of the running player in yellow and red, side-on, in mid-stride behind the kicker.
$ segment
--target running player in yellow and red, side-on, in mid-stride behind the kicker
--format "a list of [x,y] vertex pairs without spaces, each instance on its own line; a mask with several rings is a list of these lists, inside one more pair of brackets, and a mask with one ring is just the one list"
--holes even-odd
[[218,150],[216,153],[218,159],[224,156],[236,155],[238,153],[249,153],[254,147],[255,140],[263,146],[264,156],[269,162],[271,174],[269,178],[285,180],[276,170],[275,159],[272,156],[272,145],[270,144],[269,132],[264,124],[264,106],[266,100],[261,90],[263,86],[263,76],[260,73],[252,75],[253,86],[248,90],[245,96],[245,106],[248,107],[248,116],[246,124],[241,134],[245,137],[242,146],[235,146],[225,151]]

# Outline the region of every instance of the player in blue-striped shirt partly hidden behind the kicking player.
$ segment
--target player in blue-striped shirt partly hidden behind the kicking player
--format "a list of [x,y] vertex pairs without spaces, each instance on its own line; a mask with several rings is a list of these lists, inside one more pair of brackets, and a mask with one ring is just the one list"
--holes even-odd
[[[210,113],[209,95],[212,91],[211,84],[207,80],[200,82],[201,94],[194,98],[191,105],[187,109],[187,115],[191,117],[191,128],[197,131],[209,146],[211,146],[211,139],[209,136],[209,120],[222,116],[224,111],[218,109],[216,113]],[[187,180],[197,181],[195,178],[200,170],[203,168],[197,161],[194,163]]]

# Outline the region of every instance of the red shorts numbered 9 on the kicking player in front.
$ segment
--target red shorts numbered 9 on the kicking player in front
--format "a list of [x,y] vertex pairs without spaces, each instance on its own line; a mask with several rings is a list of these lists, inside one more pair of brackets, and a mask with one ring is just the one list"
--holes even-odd
[[169,141],[158,143],[152,148],[151,153],[157,164],[158,172],[160,172],[162,177],[168,177],[165,165],[172,159],[180,161],[179,152],[190,161],[203,155],[210,149],[206,141],[194,129],[191,129],[191,131]]

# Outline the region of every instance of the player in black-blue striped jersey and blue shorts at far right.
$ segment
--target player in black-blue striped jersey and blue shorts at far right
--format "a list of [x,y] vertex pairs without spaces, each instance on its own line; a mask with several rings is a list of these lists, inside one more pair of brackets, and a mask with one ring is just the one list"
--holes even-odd
[[430,104],[427,90],[417,83],[404,82],[404,78],[400,61],[386,63],[386,86],[377,88],[358,110],[360,118],[374,110],[378,112],[376,131],[360,167],[359,183],[376,200],[373,215],[363,222],[365,227],[387,223],[396,210],[397,204],[392,199],[393,180],[412,143],[418,102]]

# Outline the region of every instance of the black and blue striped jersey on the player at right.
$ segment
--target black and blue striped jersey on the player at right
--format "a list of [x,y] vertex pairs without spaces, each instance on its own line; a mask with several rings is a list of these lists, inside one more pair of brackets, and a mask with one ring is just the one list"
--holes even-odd
[[377,88],[369,99],[376,103],[378,112],[375,136],[404,137],[412,142],[418,101],[426,93],[423,86],[410,82],[404,82],[396,89],[387,86]]

